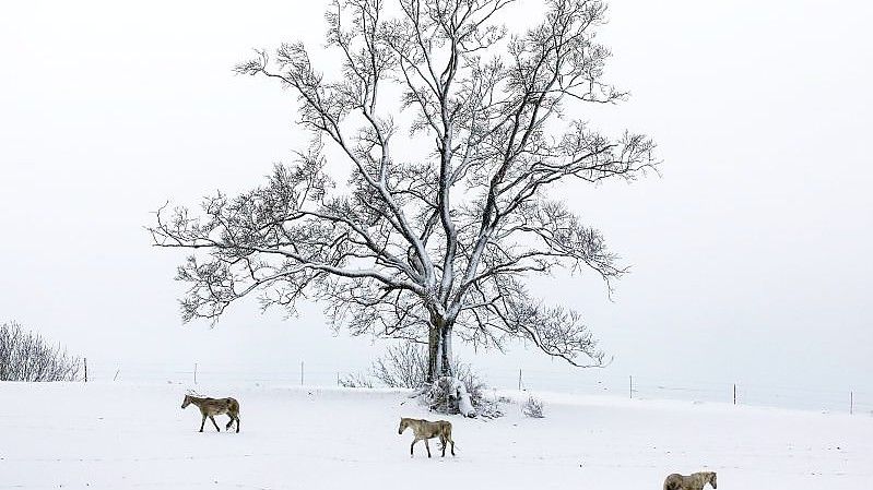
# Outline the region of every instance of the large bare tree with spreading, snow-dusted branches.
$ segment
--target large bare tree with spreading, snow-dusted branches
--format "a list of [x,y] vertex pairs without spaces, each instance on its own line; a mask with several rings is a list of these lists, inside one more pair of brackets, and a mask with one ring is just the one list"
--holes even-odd
[[[602,80],[604,2],[547,0],[544,20],[511,36],[497,17],[512,0],[387,3],[332,2],[337,80],[299,43],[236,67],[295,94],[314,139],[258,189],[209,198],[202,214],[157,213],[154,244],[194,251],[178,270],[190,284],[184,320],[215,321],[255,291],[291,312],[310,297],[334,327],[426,343],[432,382],[452,375],[455,335],[498,349],[521,338],[602,366],[580,315],[523,280],[590,270],[611,290],[626,272],[547,195],[558,181],[632,180],[654,166],[647,138],[610,139],[565,116],[625,97]],[[334,159],[351,167],[346,192],[326,171]]]

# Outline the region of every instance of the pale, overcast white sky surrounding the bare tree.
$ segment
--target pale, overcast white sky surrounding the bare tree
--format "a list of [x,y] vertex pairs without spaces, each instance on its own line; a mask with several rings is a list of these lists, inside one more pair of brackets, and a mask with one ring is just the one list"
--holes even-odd
[[[143,229],[167,200],[260,184],[300,147],[291,94],[231,68],[319,47],[327,3],[3,4],[0,321],[105,369],[366,368],[382,344],[334,338],[317,306],[182,326],[181,254]],[[609,16],[609,79],[632,97],[574,111],[650,134],[662,177],[561,190],[632,265],[612,302],[585,276],[533,291],[587,315],[611,375],[873,392],[871,3],[615,0]],[[496,380],[569,372],[522,346],[465,356]]]

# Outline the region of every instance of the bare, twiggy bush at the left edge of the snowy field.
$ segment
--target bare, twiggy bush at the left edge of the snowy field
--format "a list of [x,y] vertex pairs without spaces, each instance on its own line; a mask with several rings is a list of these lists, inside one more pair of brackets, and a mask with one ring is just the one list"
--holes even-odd
[[0,326],[0,381],[75,381],[82,361],[16,322]]

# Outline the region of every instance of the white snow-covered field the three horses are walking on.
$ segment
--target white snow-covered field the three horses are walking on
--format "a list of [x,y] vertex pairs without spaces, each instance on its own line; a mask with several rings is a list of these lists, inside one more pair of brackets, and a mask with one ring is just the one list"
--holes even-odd
[[[0,489],[660,489],[715,470],[722,489],[863,489],[873,417],[543,394],[493,421],[451,418],[457,457],[428,459],[402,393],[210,390],[240,402],[241,432],[199,433],[181,385],[0,383]],[[518,393],[516,393],[519,396]],[[217,418],[222,426],[226,417]]]

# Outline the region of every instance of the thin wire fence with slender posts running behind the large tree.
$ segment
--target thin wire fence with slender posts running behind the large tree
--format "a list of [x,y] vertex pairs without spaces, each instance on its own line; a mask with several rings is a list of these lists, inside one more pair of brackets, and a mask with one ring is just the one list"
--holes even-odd
[[[355,371],[325,362],[298,360],[285,369],[252,364],[189,366],[166,363],[91,362],[91,382],[170,383],[194,386],[335,386]],[[366,371],[366,370],[365,370]],[[873,416],[873,391],[828,390],[764,383],[676,382],[598,370],[583,374],[566,370],[515,369],[476,370],[489,387],[498,390],[548,391],[581,395],[609,395],[636,399],[673,399],[692,403],[723,403],[826,413]],[[604,374],[605,373],[605,374]],[[375,383],[378,385],[378,382]]]

